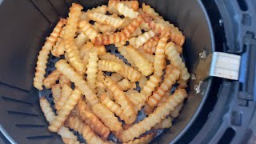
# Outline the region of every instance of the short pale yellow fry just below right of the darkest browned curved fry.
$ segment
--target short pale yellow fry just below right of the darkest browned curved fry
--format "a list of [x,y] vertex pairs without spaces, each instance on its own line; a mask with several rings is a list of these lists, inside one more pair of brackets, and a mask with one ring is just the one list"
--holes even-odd
[[150,38],[153,38],[156,34],[153,30],[147,31],[138,36],[138,38],[130,38],[130,45],[137,48],[146,43]]

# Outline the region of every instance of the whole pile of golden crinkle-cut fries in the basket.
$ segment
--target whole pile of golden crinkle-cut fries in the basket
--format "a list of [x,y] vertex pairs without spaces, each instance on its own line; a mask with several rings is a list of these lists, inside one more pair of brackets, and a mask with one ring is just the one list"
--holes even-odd
[[[180,56],[184,35],[150,6],[139,8],[138,1],[82,9],[72,4],[38,55],[34,87],[51,89],[56,109],[55,114],[40,98],[49,130],[65,143],[80,143],[70,129],[87,143],[114,143],[110,134],[122,143],[150,142],[156,130],[170,128],[187,97],[190,74]],[[106,52],[110,44],[129,64]],[[65,58],[45,78],[50,53]],[[135,122],[141,110],[147,117]]]

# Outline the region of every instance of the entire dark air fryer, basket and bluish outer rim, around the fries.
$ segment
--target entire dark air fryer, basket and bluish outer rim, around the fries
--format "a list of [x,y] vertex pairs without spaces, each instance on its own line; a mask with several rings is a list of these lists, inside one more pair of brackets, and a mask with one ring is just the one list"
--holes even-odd
[[[0,0],[0,143],[62,143],[47,130],[38,98],[53,104],[50,90],[33,87],[38,51],[72,2],[84,10],[103,0]],[[155,143],[255,142],[256,2],[253,0],[148,0],[186,36],[184,60],[192,78],[189,98],[170,130]],[[108,47],[114,53],[114,47]],[[198,82],[198,63],[214,52],[241,56],[238,80]],[[58,58],[50,55],[46,74]],[[199,73],[200,74],[200,73]],[[153,142],[153,143],[154,143]]]

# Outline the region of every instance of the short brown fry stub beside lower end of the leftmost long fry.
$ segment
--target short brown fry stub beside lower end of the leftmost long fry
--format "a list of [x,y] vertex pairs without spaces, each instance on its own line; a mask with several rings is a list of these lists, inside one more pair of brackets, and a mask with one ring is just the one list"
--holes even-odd
[[52,86],[54,86],[60,76],[61,73],[58,70],[54,70],[43,80],[43,85],[46,87],[46,89],[50,89]]

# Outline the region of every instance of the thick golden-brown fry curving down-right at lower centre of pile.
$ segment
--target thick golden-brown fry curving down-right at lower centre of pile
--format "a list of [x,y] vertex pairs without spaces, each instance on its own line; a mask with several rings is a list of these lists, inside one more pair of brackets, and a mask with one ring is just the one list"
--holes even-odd
[[104,85],[114,94],[115,102],[121,106],[126,124],[133,123],[136,119],[136,113],[130,99],[110,78],[105,78]]

